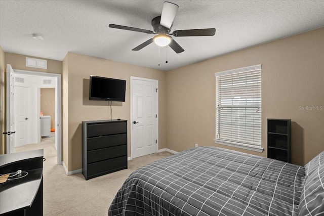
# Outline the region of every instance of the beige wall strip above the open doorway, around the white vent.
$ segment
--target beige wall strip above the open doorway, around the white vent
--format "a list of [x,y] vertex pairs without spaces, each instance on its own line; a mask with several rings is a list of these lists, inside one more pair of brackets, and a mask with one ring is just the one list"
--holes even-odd
[[30,70],[37,72],[47,72],[47,73],[59,73],[62,74],[62,61],[45,59],[47,60],[47,69],[35,68],[35,67],[26,67],[26,57],[44,59],[33,56],[25,56],[15,53],[6,53],[6,64],[10,64],[13,69],[18,70]]

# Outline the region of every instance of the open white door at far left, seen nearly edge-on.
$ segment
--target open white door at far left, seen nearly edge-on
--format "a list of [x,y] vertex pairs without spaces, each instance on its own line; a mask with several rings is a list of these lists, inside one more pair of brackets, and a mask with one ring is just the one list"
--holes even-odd
[[11,65],[7,65],[7,125],[6,125],[6,153],[13,153],[15,152],[15,107],[14,107],[14,100],[15,100],[15,72],[12,69]]

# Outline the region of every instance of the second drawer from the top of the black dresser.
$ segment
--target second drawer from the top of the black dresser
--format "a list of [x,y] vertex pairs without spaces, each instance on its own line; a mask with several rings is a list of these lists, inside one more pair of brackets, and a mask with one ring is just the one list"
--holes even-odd
[[127,134],[87,138],[87,150],[95,150],[127,144]]

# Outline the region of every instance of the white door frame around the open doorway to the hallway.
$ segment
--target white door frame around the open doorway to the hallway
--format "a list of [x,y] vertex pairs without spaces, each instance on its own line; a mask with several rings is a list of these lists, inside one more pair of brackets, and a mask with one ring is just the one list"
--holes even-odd
[[[62,164],[62,90],[61,90],[61,74],[58,73],[47,73],[47,72],[37,72],[30,70],[16,70],[14,69],[16,74],[25,74],[25,75],[34,75],[34,76],[48,76],[56,78],[56,88],[55,94],[57,95],[57,103],[55,103],[57,112],[55,121],[55,131],[57,132],[57,164]],[[39,114],[39,95],[38,95],[38,114]],[[56,102],[56,101],[55,101]],[[7,102],[8,103],[8,102]],[[7,111],[6,111],[7,112]],[[38,119],[39,122],[39,119]],[[38,134],[39,134],[39,123],[38,123]],[[38,136],[39,137],[39,136]],[[39,138],[40,139],[40,138]]]

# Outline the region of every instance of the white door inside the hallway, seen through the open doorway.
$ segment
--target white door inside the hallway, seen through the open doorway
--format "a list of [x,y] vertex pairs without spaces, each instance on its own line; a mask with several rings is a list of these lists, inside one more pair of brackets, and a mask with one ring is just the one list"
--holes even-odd
[[30,122],[29,97],[30,88],[15,86],[15,125],[17,127],[15,147],[30,143],[28,139],[28,127]]

